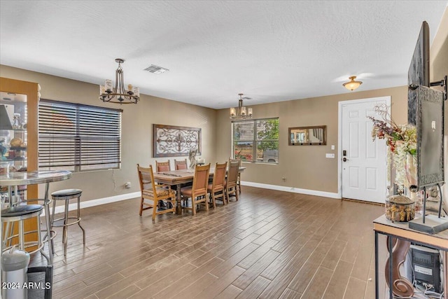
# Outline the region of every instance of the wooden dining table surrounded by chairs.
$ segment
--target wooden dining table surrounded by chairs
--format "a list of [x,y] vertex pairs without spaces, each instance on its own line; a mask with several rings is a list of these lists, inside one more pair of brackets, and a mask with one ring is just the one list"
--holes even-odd
[[[239,167],[239,172],[244,172],[246,167]],[[213,178],[215,167],[210,167],[209,178]],[[195,176],[195,169],[179,169],[167,172],[155,172],[154,181],[169,186],[176,186],[176,214],[182,214],[181,186],[185,183],[192,183]]]

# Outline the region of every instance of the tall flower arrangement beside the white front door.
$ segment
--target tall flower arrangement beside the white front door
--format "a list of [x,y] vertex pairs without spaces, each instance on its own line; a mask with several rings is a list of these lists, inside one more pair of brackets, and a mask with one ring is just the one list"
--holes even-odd
[[[417,133],[414,125],[397,125],[388,112],[388,106],[375,106],[375,112],[381,119],[367,116],[372,120],[372,139],[386,139],[387,162],[395,169],[395,183],[402,188],[416,184],[416,141]],[[388,169],[388,180],[391,174]]]

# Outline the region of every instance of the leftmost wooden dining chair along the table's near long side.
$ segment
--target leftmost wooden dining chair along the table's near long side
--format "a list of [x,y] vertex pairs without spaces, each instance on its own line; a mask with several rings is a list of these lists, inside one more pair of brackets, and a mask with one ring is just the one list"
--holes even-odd
[[[184,200],[183,209],[190,209],[193,216],[196,215],[196,205],[203,203],[209,211],[207,202],[207,186],[209,184],[210,163],[208,165],[196,165],[193,186],[181,188],[181,197]],[[188,207],[188,198],[191,198],[191,207]]]

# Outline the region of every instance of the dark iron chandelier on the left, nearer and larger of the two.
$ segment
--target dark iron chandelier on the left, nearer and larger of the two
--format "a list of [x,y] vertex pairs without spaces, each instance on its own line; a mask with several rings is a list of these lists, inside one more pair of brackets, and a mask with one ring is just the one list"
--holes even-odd
[[137,104],[140,100],[140,89],[131,84],[127,85],[127,90],[125,89],[123,69],[121,68],[121,64],[125,60],[117,58],[115,62],[118,62],[118,69],[115,72],[115,87],[112,88],[112,80],[106,80],[104,85],[99,85],[99,99],[110,103]]

